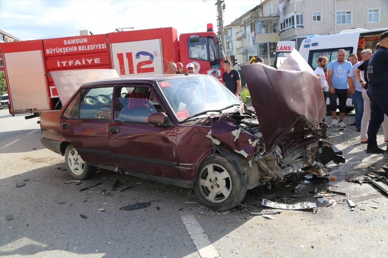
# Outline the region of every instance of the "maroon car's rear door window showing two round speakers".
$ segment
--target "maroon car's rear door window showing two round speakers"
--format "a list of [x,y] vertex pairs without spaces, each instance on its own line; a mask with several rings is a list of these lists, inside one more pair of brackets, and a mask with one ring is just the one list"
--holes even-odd
[[83,89],[81,91],[81,119],[111,119],[113,87]]

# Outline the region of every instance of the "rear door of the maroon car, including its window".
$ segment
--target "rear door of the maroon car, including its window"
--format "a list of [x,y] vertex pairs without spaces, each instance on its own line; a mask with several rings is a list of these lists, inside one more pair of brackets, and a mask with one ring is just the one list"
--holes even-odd
[[82,89],[60,118],[61,132],[83,160],[113,164],[108,139],[113,87]]

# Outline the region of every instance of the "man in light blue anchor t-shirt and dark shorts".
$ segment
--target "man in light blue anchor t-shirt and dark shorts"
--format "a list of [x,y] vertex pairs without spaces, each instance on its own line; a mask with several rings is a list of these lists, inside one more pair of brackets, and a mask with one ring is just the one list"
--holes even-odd
[[[331,125],[346,127],[345,118],[346,99],[348,98],[348,74],[352,71],[352,63],[345,60],[346,51],[340,49],[337,52],[337,60],[327,65],[327,84],[329,85],[329,110],[333,117]],[[350,86],[351,88],[353,85]],[[337,120],[337,98],[340,110],[340,120]]]

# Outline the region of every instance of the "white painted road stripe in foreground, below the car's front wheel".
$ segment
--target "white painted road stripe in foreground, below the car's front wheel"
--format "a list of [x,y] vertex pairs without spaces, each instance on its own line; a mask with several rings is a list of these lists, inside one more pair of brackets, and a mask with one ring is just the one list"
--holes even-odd
[[185,225],[187,232],[202,258],[215,258],[219,256],[217,250],[214,248],[213,244],[210,243],[208,236],[206,236],[194,215],[182,215],[180,216],[180,219]]

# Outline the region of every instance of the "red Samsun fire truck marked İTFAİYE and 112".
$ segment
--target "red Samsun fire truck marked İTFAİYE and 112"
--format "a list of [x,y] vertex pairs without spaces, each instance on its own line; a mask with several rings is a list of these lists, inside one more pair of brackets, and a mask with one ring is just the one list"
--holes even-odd
[[[31,113],[62,106],[52,71],[115,69],[120,77],[163,74],[169,62],[192,63],[196,73],[217,74],[222,81],[220,37],[208,31],[180,34],[174,28],[1,43],[10,114]],[[214,73],[214,71],[217,71]]]

